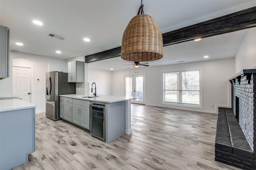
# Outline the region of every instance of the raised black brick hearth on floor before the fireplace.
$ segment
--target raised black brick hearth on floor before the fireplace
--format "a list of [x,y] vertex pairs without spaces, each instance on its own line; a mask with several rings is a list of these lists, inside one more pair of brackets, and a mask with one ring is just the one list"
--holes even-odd
[[252,170],[253,154],[231,108],[218,108],[215,160]]

